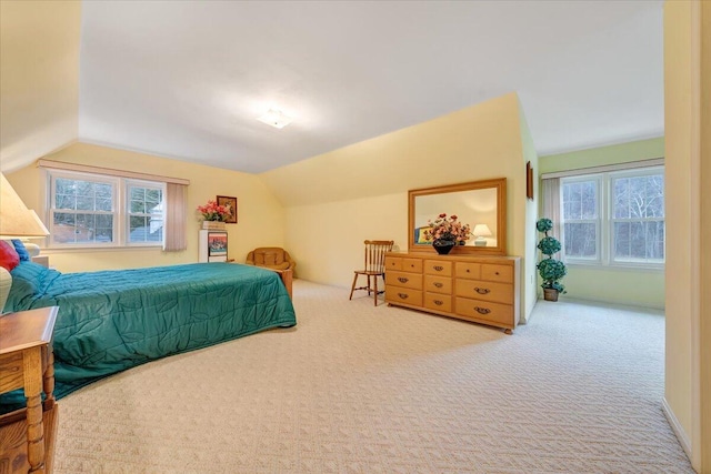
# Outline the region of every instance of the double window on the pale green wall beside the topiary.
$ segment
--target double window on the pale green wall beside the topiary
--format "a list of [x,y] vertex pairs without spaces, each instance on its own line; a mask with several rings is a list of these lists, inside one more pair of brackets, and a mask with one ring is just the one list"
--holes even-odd
[[562,178],[561,241],[570,263],[664,263],[663,167]]

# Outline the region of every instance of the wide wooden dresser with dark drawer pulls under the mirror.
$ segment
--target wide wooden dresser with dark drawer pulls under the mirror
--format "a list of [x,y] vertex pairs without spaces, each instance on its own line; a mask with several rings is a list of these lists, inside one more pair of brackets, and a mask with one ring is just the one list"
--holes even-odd
[[385,254],[385,302],[503,327],[519,323],[518,256]]

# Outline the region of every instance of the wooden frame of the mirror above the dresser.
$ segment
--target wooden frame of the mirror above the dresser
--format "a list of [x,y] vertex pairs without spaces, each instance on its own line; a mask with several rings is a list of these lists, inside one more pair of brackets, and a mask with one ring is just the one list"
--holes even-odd
[[421,195],[445,194],[460,191],[475,191],[481,189],[497,190],[497,246],[457,245],[450,255],[505,255],[507,254],[507,179],[470,181],[467,183],[449,184],[408,191],[408,251],[432,252],[431,244],[414,241],[414,200]]

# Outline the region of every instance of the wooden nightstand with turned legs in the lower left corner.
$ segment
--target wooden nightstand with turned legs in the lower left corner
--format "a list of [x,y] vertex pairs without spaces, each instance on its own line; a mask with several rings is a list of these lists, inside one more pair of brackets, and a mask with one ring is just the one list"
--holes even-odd
[[57,311],[51,306],[0,316],[0,393],[24,389],[27,399],[26,409],[0,416],[0,474],[52,471],[59,410],[51,346]]

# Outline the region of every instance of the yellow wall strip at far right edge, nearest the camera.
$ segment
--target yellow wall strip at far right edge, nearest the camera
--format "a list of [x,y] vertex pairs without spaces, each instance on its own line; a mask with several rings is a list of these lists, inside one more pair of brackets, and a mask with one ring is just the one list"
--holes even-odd
[[665,2],[664,411],[699,473],[711,473],[710,58],[711,4]]

